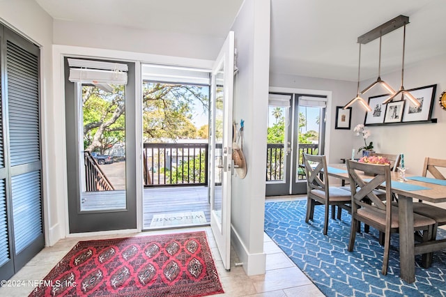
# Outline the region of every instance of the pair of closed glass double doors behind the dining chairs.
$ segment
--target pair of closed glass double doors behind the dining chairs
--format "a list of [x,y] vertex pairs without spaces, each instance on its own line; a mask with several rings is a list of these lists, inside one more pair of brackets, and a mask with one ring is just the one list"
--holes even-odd
[[302,155],[323,154],[325,96],[270,93],[266,196],[306,194]]

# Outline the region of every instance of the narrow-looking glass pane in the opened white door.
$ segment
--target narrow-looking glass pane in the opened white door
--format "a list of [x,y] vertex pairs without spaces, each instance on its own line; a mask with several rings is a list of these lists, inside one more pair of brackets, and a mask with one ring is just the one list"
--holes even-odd
[[224,117],[224,71],[223,68],[215,76],[215,109],[213,119],[215,121],[215,174],[214,174],[214,192],[213,192],[213,213],[217,220],[222,224],[222,178],[223,178],[223,117]]

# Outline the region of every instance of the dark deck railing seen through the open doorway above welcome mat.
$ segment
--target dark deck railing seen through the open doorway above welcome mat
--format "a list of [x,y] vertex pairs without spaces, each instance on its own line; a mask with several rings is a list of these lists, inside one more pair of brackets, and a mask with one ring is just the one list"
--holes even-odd
[[144,144],[144,187],[208,185],[208,144]]

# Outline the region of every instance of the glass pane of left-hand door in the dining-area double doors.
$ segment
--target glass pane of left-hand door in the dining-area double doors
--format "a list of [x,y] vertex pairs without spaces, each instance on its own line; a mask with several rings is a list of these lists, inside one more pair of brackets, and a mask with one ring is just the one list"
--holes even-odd
[[285,179],[287,112],[287,107],[268,107],[266,181],[284,181]]

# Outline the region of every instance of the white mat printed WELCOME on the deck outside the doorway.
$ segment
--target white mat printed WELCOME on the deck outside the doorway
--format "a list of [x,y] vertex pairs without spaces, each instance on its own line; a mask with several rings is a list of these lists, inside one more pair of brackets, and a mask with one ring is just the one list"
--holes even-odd
[[185,211],[183,213],[159,213],[153,215],[153,227],[180,227],[191,224],[206,224],[206,215],[203,211]]

